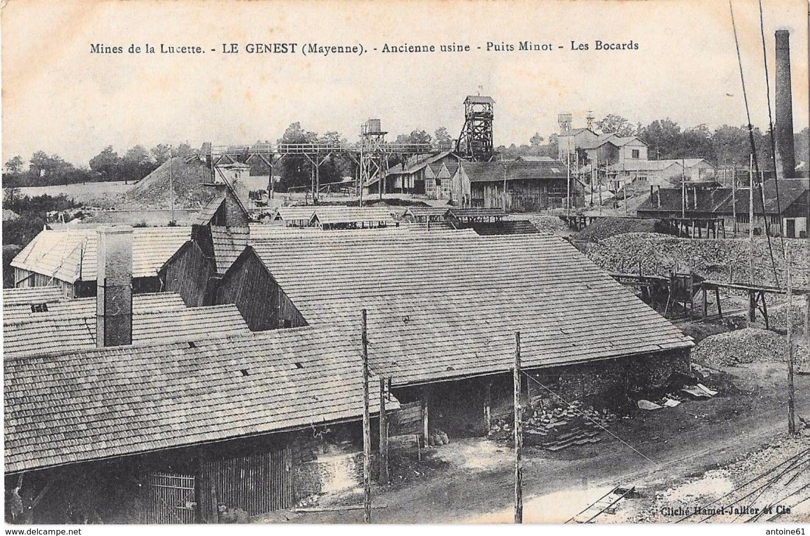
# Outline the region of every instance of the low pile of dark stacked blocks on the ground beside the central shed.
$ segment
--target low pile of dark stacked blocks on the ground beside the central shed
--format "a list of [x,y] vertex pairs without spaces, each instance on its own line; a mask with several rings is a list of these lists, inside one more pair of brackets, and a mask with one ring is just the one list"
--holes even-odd
[[[523,445],[556,451],[572,445],[586,445],[600,440],[599,433],[616,415],[608,410],[582,408],[582,402],[567,407],[531,407],[523,415]],[[512,422],[499,419],[492,423],[489,436],[511,444]]]

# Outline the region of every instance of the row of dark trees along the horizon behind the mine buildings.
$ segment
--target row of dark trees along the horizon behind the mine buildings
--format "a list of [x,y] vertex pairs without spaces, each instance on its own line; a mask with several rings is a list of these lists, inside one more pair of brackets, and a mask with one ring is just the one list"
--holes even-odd
[[[750,145],[748,129],[744,126],[722,125],[711,130],[706,125],[683,127],[671,119],[659,119],[648,125],[633,123],[615,114],[608,114],[596,121],[595,130],[617,136],[637,136],[648,146],[650,160],[668,160],[679,158],[705,158],[712,164],[723,166],[748,166]],[[763,169],[773,167],[773,156],[770,134],[767,130],[753,129],[754,143],[757,146],[757,159]],[[429,134],[426,130],[412,130],[410,134],[399,134],[394,143],[428,143],[433,147],[452,147],[455,138],[445,127],[440,127]],[[296,121],[284,130],[277,143],[347,143],[347,139],[335,130],[318,134],[305,130]],[[257,142],[261,143],[261,142]],[[266,141],[264,142],[266,143]],[[548,156],[558,158],[557,134],[544,138],[535,133],[529,143],[496,147],[497,153],[504,160],[514,160],[520,156]],[[795,135],[797,162],[808,162],[808,129]],[[36,151],[26,162],[21,156],[7,160],[3,185],[6,187],[66,185],[98,181],[140,181],[149,173],[168,160],[169,155],[185,157],[194,151],[186,144],[170,148],[158,144],[148,149],[135,145],[123,155],[119,155],[112,146],[104,147],[98,155],[89,160],[87,167],[74,166],[59,155],[48,155],[45,151]],[[401,157],[392,155],[389,164],[401,163]],[[252,175],[266,175],[270,170],[265,164],[251,161]],[[356,164],[347,155],[331,155],[319,167],[321,184],[339,182],[343,177],[355,177]],[[311,182],[312,164],[303,155],[287,155],[274,164],[274,175],[281,178],[277,185],[279,191],[288,188],[309,185]]]

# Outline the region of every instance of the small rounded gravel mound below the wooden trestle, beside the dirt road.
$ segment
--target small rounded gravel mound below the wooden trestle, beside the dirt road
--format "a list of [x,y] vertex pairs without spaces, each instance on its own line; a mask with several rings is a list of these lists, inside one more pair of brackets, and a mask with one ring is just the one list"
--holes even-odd
[[693,360],[723,367],[741,363],[783,361],[786,355],[787,342],[783,335],[755,328],[706,337],[692,351]]

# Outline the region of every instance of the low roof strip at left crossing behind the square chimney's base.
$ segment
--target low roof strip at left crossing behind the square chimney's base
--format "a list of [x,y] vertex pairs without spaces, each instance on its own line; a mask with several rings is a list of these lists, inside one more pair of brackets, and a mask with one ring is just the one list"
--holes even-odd
[[[4,357],[76,351],[96,346],[96,308],[36,313],[3,321]],[[234,304],[209,307],[141,310],[132,316],[135,344],[193,340],[248,333]]]

